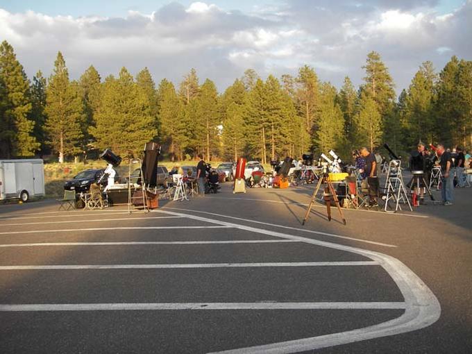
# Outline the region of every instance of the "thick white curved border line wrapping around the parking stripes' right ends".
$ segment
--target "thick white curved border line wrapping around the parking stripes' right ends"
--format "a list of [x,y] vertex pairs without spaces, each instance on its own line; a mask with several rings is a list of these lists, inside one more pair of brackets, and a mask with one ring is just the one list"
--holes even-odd
[[229,351],[221,351],[218,353],[235,354],[235,353],[297,353],[301,351],[313,351],[318,348],[326,348],[329,346],[337,346],[339,344],[348,344],[352,342],[360,342],[366,339],[378,337],[386,337],[390,335],[398,335],[400,333],[411,332],[428,327],[435,323],[441,316],[441,305],[435,294],[431,292],[423,281],[416,274],[405,266],[402,262],[383,253],[368,251],[352,246],[344,246],[341,244],[332,244],[330,242],[319,241],[316,239],[308,239],[305,237],[287,235],[270,230],[252,228],[250,226],[237,225],[226,221],[218,221],[205,217],[196,217],[190,214],[183,214],[168,211],[156,211],[164,214],[178,215],[188,217],[189,219],[205,221],[208,223],[230,226],[239,228],[252,233],[262,233],[281,237],[283,239],[296,239],[307,244],[316,244],[317,246],[325,246],[335,248],[341,251],[357,253],[371,260],[378,262],[400,289],[403,298],[405,298],[405,312],[396,319],[379,323],[373,326],[358,328],[356,330],[348,330],[346,332],[332,333],[330,335],[321,335],[304,339],[295,339],[287,342],[278,342],[273,344],[264,344],[261,346],[251,346],[248,348],[231,349]]

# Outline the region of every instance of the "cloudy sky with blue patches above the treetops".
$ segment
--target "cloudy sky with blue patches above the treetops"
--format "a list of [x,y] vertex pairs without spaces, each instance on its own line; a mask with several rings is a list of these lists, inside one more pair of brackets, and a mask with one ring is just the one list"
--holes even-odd
[[62,51],[71,78],[148,67],[156,83],[178,83],[194,67],[219,90],[248,68],[296,75],[305,64],[359,85],[374,50],[399,93],[425,60],[438,71],[453,55],[472,60],[472,0],[0,0],[0,40],[30,77],[49,76]]

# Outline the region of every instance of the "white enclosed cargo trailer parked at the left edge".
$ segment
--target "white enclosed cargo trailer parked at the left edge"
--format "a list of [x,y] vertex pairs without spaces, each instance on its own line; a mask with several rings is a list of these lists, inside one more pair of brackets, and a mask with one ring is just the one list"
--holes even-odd
[[0,201],[44,196],[44,163],[41,159],[0,160]]

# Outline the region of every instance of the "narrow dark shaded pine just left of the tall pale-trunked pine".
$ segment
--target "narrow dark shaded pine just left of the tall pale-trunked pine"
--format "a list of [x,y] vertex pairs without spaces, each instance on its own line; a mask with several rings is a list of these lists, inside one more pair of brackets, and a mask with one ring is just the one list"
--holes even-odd
[[41,70],[37,71],[36,75],[33,77],[33,84],[30,87],[31,103],[33,104],[30,117],[31,120],[35,122],[33,135],[36,141],[40,143],[40,155],[43,155],[47,149],[47,139],[44,131],[47,118],[44,112],[46,108],[46,87],[46,78],[42,76]]

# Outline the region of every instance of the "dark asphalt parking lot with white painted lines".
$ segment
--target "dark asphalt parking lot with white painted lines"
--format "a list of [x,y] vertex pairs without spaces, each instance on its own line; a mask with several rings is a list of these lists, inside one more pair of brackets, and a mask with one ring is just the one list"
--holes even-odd
[[0,205],[0,352],[471,351],[472,189],[301,226],[311,188]]

